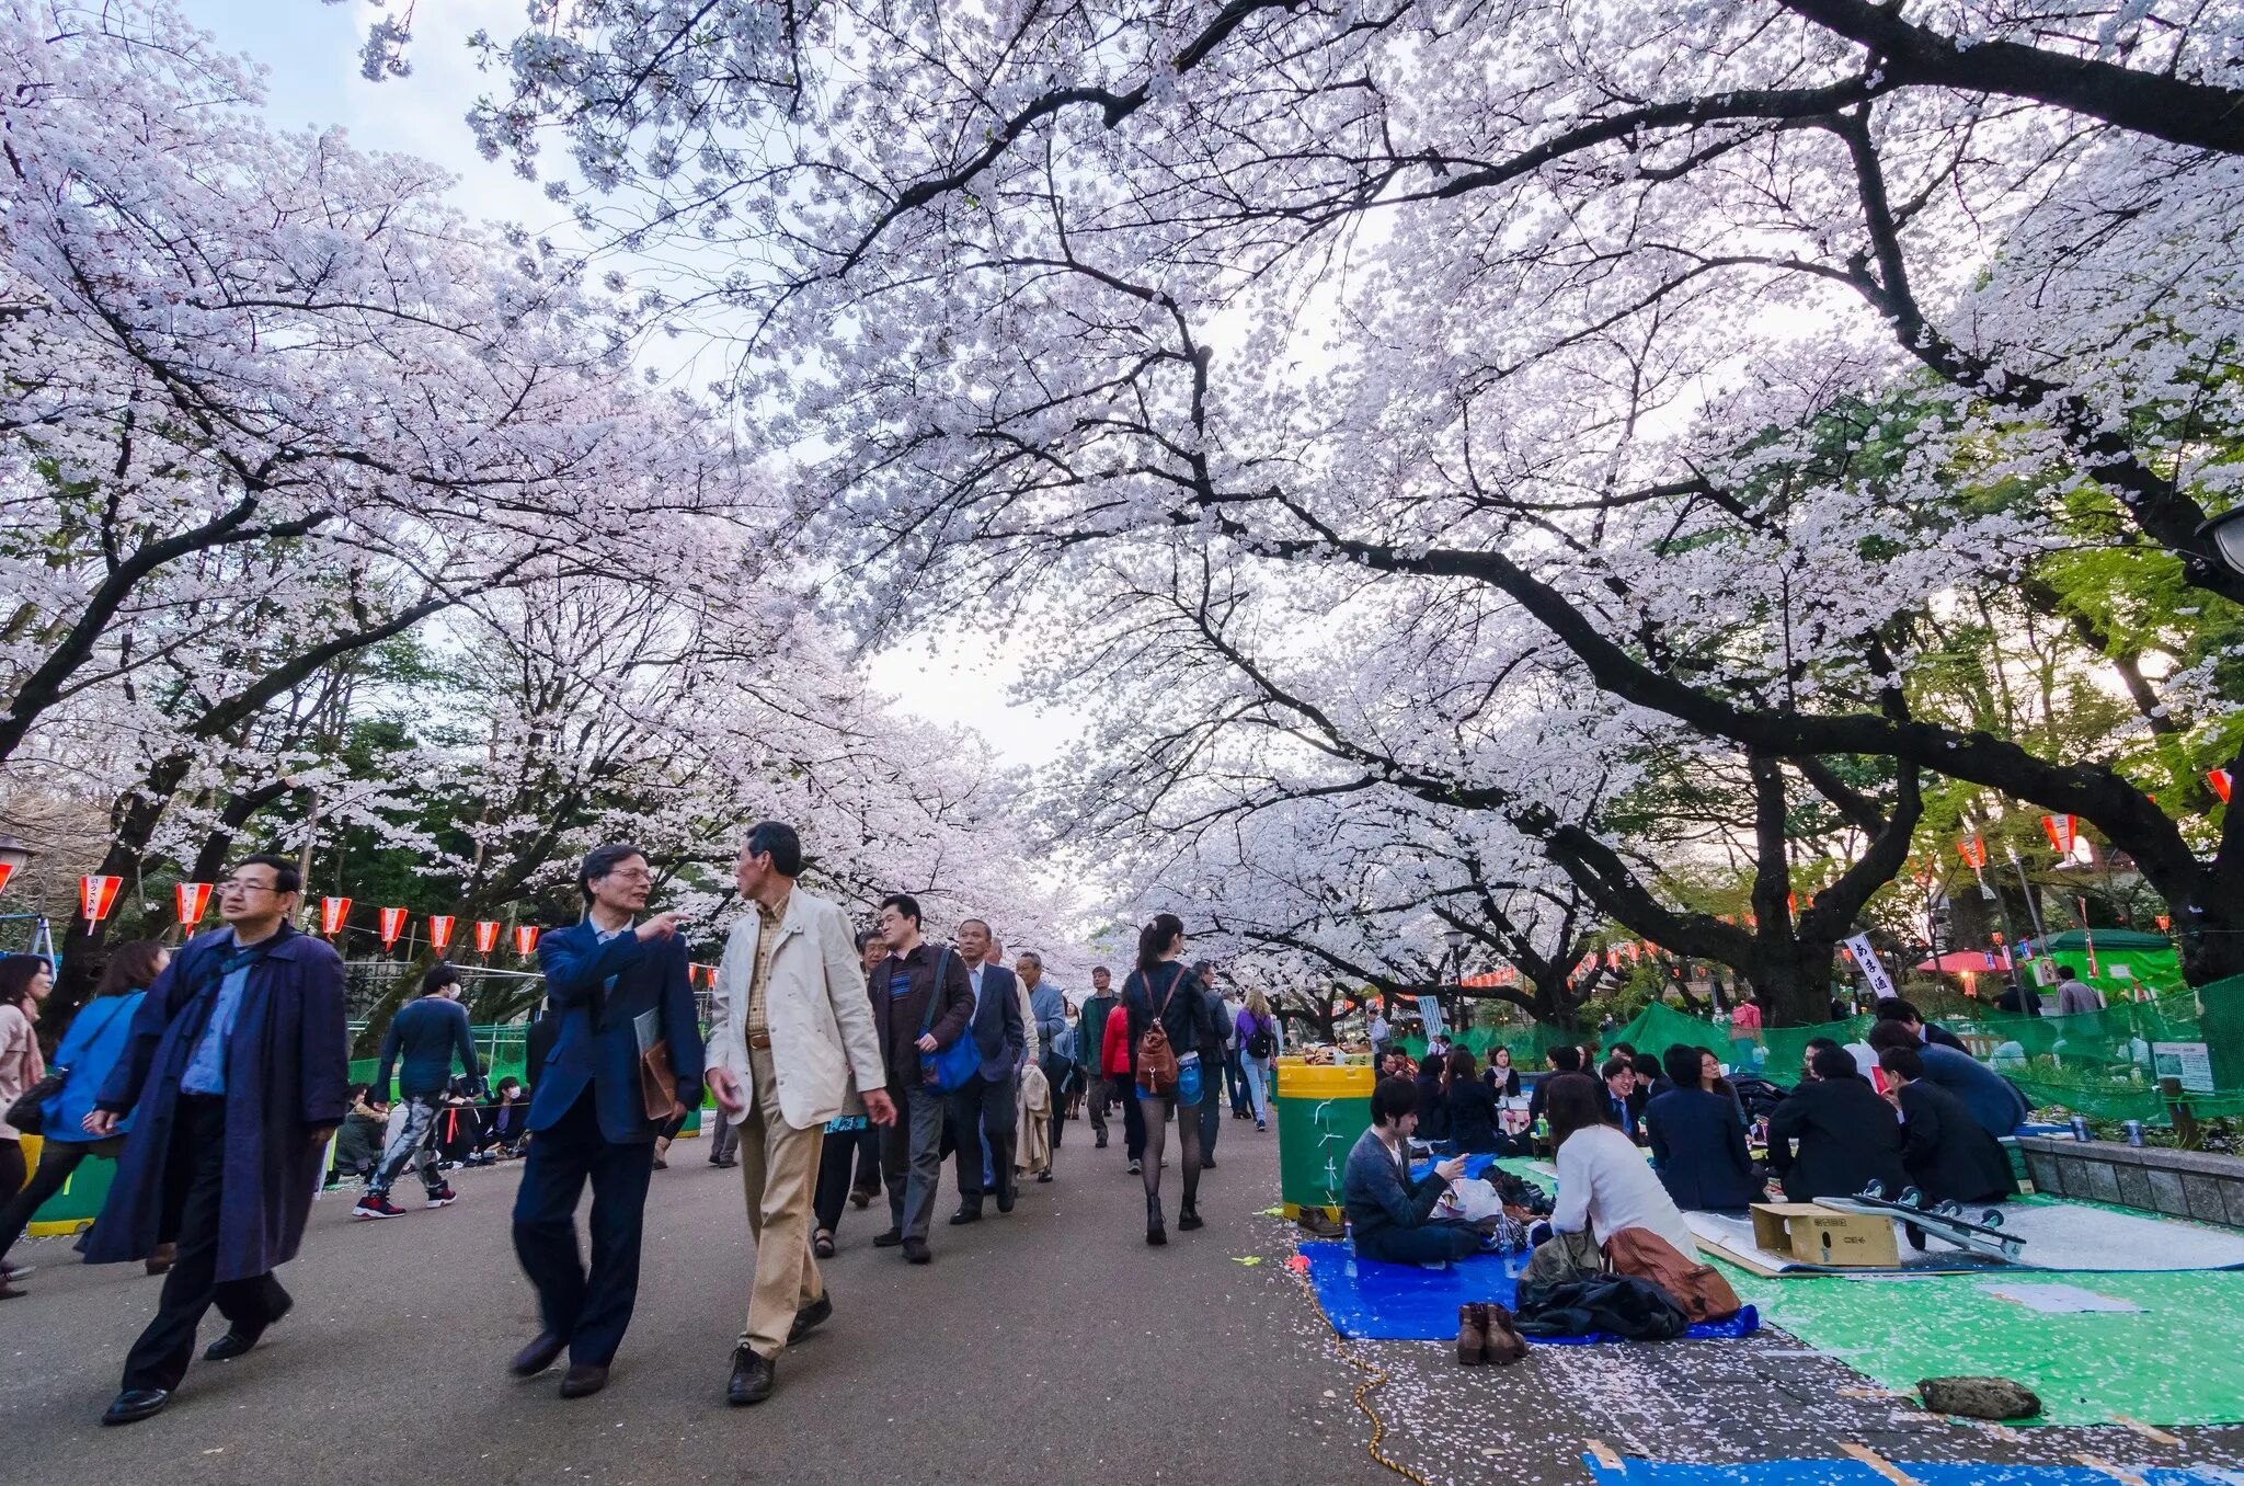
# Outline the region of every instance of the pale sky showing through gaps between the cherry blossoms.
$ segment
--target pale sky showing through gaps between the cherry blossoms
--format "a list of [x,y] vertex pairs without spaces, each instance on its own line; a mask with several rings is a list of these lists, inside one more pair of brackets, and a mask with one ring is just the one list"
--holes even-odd
[[[364,0],[182,0],[193,25],[267,70],[274,126],[341,126],[359,148],[431,159],[458,177],[453,202],[480,218],[521,222],[557,242],[574,240],[568,215],[505,164],[476,155],[465,114],[491,90],[467,49],[489,29],[512,36],[523,0],[420,0],[411,76],[368,83],[359,76],[366,27],[381,16]],[[1066,745],[1066,718],[1008,700],[1021,680],[1005,649],[981,635],[909,642],[868,660],[868,678],[904,712],[983,734],[1001,763],[1050,763]]]

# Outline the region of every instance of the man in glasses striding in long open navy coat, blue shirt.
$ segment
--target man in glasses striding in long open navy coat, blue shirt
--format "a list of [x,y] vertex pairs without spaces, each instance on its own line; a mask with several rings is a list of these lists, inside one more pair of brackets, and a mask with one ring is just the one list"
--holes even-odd
[[350,1073],[343,961],[292,927],[301,887],[294,862],[267,855],[220,882],[227,927],[191,938],[155,979],[85,1116],[108,1136],[132,1113],[108,1203],[79,1246],[88,1264],[180,1246],[101,1423],[171,1403],[213,1304],[229,1331],[202,1354],[211,1363],[256,1347],[292,1304],[272,1271],[303,1241]]

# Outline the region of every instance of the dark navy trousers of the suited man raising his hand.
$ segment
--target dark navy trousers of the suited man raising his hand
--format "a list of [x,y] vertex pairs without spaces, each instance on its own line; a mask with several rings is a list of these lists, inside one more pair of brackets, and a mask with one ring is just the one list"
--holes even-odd
[[[640,1297],[640,1228],[653,1140],[599,1134],[592,1089],[530,1140],[514,1192],[514,1257],[539,1291],[545,1329],[568,1340],[572,1363],[606,1367],[624,1345]],[[577,1203],[592,1183],[592,1268],[577,1255]]]

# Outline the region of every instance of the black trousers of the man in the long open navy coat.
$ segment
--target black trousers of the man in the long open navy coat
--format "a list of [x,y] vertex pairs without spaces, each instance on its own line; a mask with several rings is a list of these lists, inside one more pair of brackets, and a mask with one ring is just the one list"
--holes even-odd
[[242,1336],[258,1336],[289,1306],[269,1273],[218,1277],[218,1212],[227,1201],[227,1100],[182,1093],[164,1154],[164,1221],[157,1239],[177,1239],[155,1320],[126,1354],[126,1389],[180,1387],[195,1358],[195,1329],[213,1304]]

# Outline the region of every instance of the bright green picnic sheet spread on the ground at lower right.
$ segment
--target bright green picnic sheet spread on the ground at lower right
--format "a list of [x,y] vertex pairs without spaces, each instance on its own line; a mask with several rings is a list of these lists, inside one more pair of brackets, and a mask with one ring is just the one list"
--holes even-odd
[[[1919,1378],[1997,1374],[2042,1396],[2031,1423],[2244,1421],[2244,1271],[1905,1279],[1721,1271],[1766,1324],[1894,1392],[1916,1392]],[[1979,1288],[1997,1279],[2073,1284],[2143,1309],[2044,1315]]]

